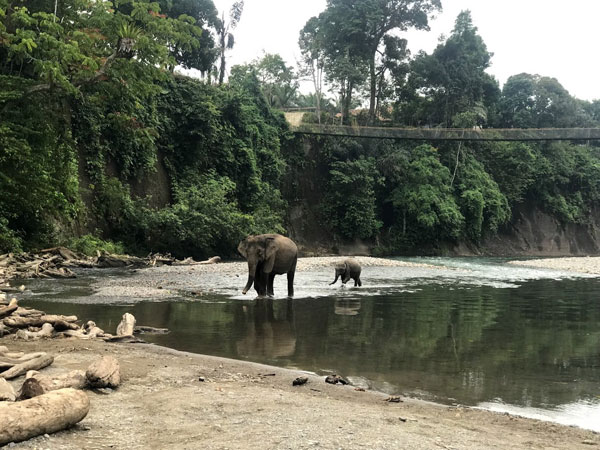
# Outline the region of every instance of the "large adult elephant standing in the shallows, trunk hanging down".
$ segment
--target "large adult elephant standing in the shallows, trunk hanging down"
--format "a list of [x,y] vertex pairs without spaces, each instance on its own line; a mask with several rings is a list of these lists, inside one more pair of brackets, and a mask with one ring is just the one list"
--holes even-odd
[[294,275],[298,247],[280,234],[248,236],[238,245],[238,252],[248,261],[248,282],[242,291],[248,292],[254,283],[258,295],[273,295],[275,275],[287,273],[288,296],[294,295]]

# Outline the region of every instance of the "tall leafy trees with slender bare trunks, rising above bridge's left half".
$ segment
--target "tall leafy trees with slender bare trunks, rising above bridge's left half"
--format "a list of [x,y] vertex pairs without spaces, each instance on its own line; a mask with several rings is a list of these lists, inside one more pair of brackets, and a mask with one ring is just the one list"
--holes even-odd
[[390,56],[402,53],[401,40],[391,33],[427,29],[429,15],[439,9],[439,0],[328,0],[325,11],[307,22],[300,46],[305,57],[323,61],[343,117],[348,118],[354,90],[368,79],[368,119],[374,122]]

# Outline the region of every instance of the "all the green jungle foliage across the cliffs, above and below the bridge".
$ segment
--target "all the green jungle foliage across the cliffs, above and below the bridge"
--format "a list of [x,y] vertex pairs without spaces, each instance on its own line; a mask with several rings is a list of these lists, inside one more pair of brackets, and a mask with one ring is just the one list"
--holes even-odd
[[[331,0],[307,23],[298,71],[265,54],[221,83],[232,23],[210,0],[65,0],[56,15],[49,0],[0,0],[0,251],[230,256],[247,234],[284,233],[307,186],[325,234],[387,253],[477,244],[523,204],[592,223],[598,147],[293,139],[278,108],[314,101],[311,120],[348,121],[361,97],[370,107],[352,120],[382,126],[598,126],[598,102],[554,79],[518,74],[500,90],[468,12],[411,58],[394,33],[426,29],[437,0],[353,3],[365,20]],[[297,74],[314,94],[298,95]]]

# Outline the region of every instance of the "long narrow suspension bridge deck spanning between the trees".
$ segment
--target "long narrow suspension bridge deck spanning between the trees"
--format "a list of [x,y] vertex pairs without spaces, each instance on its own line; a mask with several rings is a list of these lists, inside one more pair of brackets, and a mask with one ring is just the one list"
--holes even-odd
[[342,125],[291,125],[296,134],[423,141],[590,141],[600,128],[392,128]]

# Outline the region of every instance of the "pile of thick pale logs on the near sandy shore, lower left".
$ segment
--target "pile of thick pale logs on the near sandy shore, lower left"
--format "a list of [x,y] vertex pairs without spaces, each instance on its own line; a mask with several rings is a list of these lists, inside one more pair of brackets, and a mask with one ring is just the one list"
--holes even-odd
[[[81,421],[90,409],[85,388],[116,388],[119,362],[112,356],[94,361],[87,370],[57,376],[38,372],[54,362],[44,353],[10,352],[0,346],[0,446],[64,430]],[[25,375],[20,389],[7,380]]]

